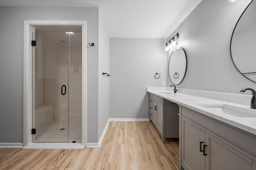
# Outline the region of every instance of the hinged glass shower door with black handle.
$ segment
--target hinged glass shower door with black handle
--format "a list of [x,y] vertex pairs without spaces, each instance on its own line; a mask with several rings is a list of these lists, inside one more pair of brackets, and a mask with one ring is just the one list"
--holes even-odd
[[35,32],[33,142],[68,142],[68,34]]

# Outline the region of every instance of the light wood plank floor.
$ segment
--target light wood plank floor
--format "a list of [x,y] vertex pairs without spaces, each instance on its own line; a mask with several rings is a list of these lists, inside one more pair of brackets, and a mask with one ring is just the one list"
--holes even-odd
[[162,143],[149,121],[112,121],[100,148],[0,149],[0,170],[177,170],[178,138]]

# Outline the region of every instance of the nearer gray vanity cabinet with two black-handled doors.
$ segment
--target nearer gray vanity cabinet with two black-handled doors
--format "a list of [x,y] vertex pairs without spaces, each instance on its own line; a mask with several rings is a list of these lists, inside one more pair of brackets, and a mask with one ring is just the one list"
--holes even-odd
[[256,170],[256,136],[243,134],[180,107],[180,169]]

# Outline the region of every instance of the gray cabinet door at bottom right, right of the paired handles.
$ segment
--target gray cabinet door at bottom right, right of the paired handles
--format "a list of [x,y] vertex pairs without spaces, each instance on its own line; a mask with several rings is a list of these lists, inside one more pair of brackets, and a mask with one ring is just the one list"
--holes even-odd
[[252,170],[253,160],[210,133],[207,144],[206,170]]

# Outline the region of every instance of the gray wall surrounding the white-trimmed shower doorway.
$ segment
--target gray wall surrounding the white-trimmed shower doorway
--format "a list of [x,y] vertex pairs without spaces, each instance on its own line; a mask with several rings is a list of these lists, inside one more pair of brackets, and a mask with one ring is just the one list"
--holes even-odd
[[[23,21],[86,20],[98,44],[98,8],[0,6],[0,143],[23,142]],[[98,142],[98,50],[88,48],[88,142]]]

